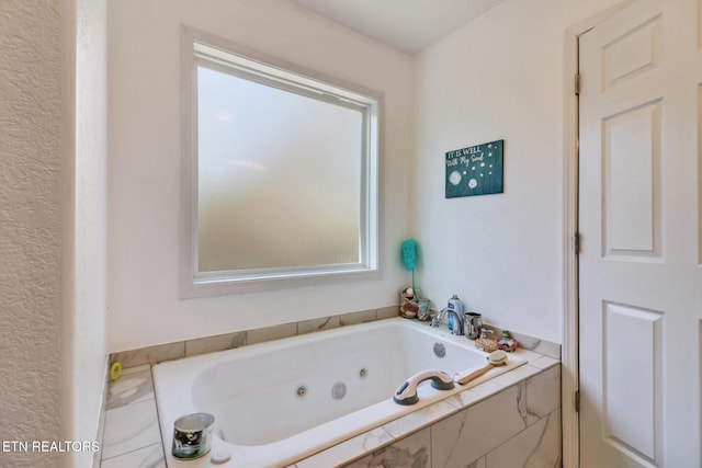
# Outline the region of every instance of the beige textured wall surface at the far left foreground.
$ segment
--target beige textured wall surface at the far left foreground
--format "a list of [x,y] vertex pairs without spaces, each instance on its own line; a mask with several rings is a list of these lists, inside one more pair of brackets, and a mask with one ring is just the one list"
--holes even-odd
[[[58,440],[60,11],[0,1],[0,440]],[[0,466],[57,466],[0,452]]]

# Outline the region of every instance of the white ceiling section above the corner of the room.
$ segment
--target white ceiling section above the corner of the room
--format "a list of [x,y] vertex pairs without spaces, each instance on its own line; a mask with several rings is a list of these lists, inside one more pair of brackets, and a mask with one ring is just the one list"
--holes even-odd
[[291,0],[394,49],[415,55],[503,0]]

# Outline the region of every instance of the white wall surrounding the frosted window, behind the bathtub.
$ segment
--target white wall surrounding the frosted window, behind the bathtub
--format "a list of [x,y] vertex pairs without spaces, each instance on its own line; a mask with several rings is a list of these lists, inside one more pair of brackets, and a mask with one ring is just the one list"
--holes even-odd
[[[109,2],[109,351],[397,304],[409,281],[409,57],[284,0]],[[378,281],[179,299],[179,23],[385,93]]]

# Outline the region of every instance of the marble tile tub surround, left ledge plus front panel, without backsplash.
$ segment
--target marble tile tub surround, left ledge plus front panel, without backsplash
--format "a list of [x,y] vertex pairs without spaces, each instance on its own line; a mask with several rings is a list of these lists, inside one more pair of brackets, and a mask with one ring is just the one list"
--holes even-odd
[[[287,468],[559,466],[559,362],[517,353],[529,363]],[[150,365],[111,383],[106,407],[100,466],[166,468]]]

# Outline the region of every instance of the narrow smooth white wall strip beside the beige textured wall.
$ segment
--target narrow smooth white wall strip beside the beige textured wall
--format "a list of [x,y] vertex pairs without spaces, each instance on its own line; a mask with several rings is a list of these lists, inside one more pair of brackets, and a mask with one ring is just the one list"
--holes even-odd
[[[63,437],[98,440],[106,379],[106,0],[66,0]],[[63,466],[90,466],[90,452]]]

